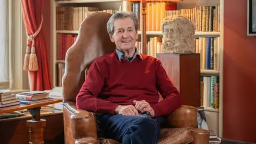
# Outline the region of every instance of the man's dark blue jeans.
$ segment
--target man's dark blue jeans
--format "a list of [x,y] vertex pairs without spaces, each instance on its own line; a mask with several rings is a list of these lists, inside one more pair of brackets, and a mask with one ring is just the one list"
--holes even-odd
[[100,128],[109,139],[123,144],[156,144],[161,138],[160,130],[163,117],[135,115],[101,115],[98,117]]

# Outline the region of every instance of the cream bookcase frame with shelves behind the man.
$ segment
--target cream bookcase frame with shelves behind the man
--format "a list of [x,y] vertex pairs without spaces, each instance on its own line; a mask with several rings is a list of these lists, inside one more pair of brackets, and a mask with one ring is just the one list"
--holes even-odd
[[[219,109],[214,109],[210,107],[206,107],[206,113],[214,117],[214,119],[219,119],[218,122],[213,122],[214,125],[214,132],[222,136],[222,76],[223,76],[223,0],[212,0],[212,1],[205,1],[205,0],[183,0],[183,2],[178,2],[177,8],[180,9],[193,9],[195,6],[214,6],[219,5],[220,7],[220,21],[219,21],[219,30],[218,31],[196,31],[195,38],[200,37],[219,37],[219,66],[218,70],[211,70],[211,69],[201,69],[201,76],[219,76]],[[51,73],[52,73],[52,84],[54,89],[60,91],[61,86],[58,85],[58,65],[62,64],[65,65],[65,57],[59,59],[58,55],[58,34],[70,34],[70,35],[77,35],[78,34],[78,27],[75,29],[57,29],[57,7],[58,6],[97,6],[99,10],[122,10],[122,11],[132,11],[132,2],[126,2],[121,0],[69,0],[69,1],[51,1],[51,15],[52,15],[52,23],[51,23],[51,35],[53,36],[51,42]],[[141,31],[138,31],[139,39],[141,38]],[[150,41],[152,37],[162,37],[161,30],[147,30],[147,41]],[[75,39],[74,39],[75,40]],[[64,67],[62,67],[65,69]],[[63,72],[63,71],[62,71]],[[211,118],[212,118],[211,117]]]

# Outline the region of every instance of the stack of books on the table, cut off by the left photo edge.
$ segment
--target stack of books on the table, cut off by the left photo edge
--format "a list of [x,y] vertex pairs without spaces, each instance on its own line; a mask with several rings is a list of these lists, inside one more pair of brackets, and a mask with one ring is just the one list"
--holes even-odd
[[0,91],[0,108],[19,105],[19,99],[15,97],[15,92],[10,90]]

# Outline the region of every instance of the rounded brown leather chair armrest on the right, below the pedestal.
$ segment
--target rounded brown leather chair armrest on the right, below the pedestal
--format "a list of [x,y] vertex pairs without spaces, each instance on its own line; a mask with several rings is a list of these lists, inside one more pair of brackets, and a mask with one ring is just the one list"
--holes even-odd
[[171,127],[196,127],[197,109],[182,105],[167,117],[167,121]]

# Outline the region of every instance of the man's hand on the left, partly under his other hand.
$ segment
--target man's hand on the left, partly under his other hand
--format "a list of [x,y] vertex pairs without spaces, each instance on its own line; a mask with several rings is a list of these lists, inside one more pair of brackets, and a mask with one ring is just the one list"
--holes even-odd
[[115,109],[116,114],[122,114],[122,115],[139,115],[138,110],[135,109],[133,105],[129,106],[117,106]]

